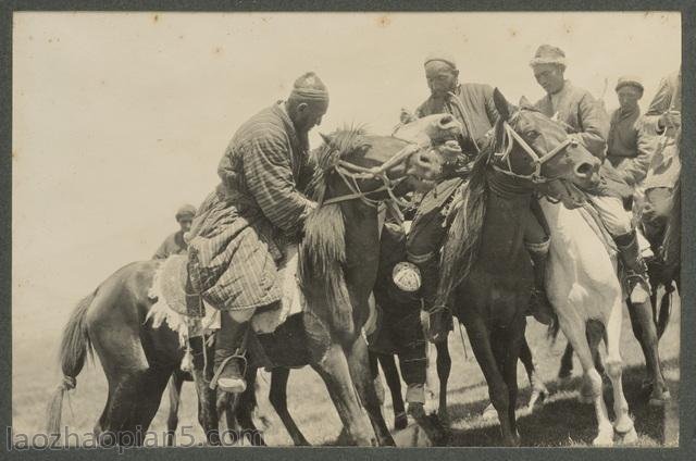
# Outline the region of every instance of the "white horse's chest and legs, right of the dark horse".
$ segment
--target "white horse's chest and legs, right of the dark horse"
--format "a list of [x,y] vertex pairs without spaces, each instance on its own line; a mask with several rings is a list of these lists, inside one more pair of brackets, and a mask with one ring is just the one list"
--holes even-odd
[[[585,379],[583,387],[592,391],[592,397],[583,401],[589,400],[595,406],[598,435],[593,444],[612,445],[614,429],[623,443],[633,443],[637,434],[621,384],[623,362],[619,346],[626,297],[618,276],[617,253],[595,232],[598,227],[584,215],[588,213],[586,209],[570,210],[547,199],[539,202],[551,232],[547,295],[561,331],[580,358]],[[593,360],[592,349],[597,345],[591,346],[586,336],[587,324],[592,321],[600,322],[605,327],[606,371],[613,387],[613,426],[602,397],[601,376]],[[581,393],[581,398],[584,395]]]

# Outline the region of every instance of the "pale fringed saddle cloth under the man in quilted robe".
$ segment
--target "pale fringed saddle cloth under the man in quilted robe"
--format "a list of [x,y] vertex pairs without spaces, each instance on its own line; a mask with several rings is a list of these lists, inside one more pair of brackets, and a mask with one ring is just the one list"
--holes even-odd
[[[152,320],[153,328],[166,323],[178,334],[182,347],[188,338],[220,329],[220,311],[204,300],[206,311],[202,317],[187,315],[186,261],[185,254],[174,254],[160,264],[148,291],[148,297],[156,302],[146,317],[146,321]],[[298,263],[298,247],[289,246],[286,249],[284,264],[278,270],[283,281],[283,300],[278,308],[259,310],[253,314],[251,326],[256,333],[273,333],[288,316],[304,309],[304,296],[297,278]]]

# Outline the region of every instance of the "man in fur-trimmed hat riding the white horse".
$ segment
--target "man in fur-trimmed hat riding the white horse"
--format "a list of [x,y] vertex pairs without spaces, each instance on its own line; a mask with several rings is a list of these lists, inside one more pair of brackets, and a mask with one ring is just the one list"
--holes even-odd
[[[638,248],[636,230],[631,215],[624,209],[624,199],[632,197],[633,188],[626,184],[621,170],[617,171],[606,159],[609,116],[589,91],[572,85],[563,76],[566,53],[558,47],[542,45],[530,62],[536,82],[546,96],[535,108],[549,117],[567,125],[567,129],[591,153],[602,161],[601,180],[591,190],[584,190],[587,202],[596,210],[609,234],[614,239],[626,269],[631,299],[644,302],[649,297],[647,266]],[[548,235],[542,228],[527,228],[525,239],[533,244],[546,242]]]

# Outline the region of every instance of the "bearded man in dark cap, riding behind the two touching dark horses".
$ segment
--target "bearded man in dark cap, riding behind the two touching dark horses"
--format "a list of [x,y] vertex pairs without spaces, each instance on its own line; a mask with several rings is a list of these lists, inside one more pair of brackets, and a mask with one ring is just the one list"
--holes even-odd
[[[481,153],[487,134],[499,114],[493,100],[493,87],[485,84],[460,84],[459,70],[451,57],[430,55],[425,59],[424,66],[431,96],[417,109],[415,117],[447,112],[462,124],[462,134],[459,137],[462,153],[455,162],[446,165],[444,179],[426,194],[419,204],[406,244],[408,261],[421,273],[421,297],[425,310],[431,313],[431,339],[440,340],[445,339],[452,328],[451,314],[447,309],[434,306],[439,275],[439,250],[447,233],[446,216],[455,192],[468,177],[471,162]],[[408,121],[403,112],[401,115],[402,122]],[[540,209],[536,210],[536,213],[540,216]],[[535,267],[540,267],[540,264],[536,263],[536,253],[531,252],[531,256]],[[407,270],[414,271],[412,267],[403,266],[403,271]],[[548,303],[545,306],[539,302],[538,294],[542,290],[543,284],[533,291],[530,308],[537,320],[548,324],[551,310]]]

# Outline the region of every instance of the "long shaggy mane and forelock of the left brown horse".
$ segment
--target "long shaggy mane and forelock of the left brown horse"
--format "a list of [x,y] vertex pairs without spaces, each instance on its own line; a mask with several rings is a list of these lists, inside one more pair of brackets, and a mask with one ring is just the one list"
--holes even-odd
[[[328,178],[339,160],[348,158],[365,144],[362,127],[346,127],[334,132],[326,142],[312,152],[314,174],[307,194],[321,203]],[[299,277],[308,303],[328,307],[330,323],[335,332],[352,334],[352,306],[344,267],[346,263],[346,227],[339,203],[313,210],[304,221],[304,238],[299,249]],[[321,309],[321,308],[320,308]]]

